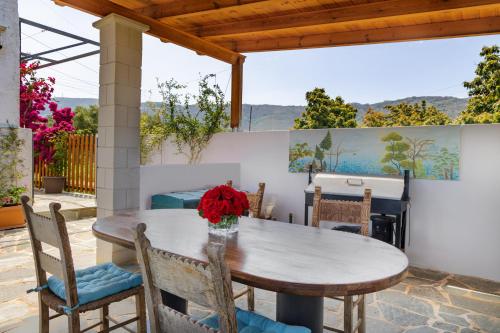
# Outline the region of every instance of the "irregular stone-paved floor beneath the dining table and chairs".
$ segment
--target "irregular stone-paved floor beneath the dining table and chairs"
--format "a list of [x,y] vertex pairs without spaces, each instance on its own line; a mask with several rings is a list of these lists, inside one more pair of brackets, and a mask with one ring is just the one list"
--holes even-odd
[[[68,222],[77,268],[95,264],[90,227],[94,219]],[[25,290],[35,285],[33,258],[25,229],[0,231],[0,332],[37,332],[37,296]],[[257,290],[256,309],[274,318],[274,293]],[[500,283],[412,268],[399,285],[368,296],[367,331],[384,333],[490,332],[500,333]],[[245,307],[245,299],[237,304]],[[191,313],[205,311],[191,307]],[[134,312],[133,301],[111,307],[118,318]],[[97,321],[98,313],[84,315],[83,327]],[[325,321],[342,322],[342,304],[325,301]],[[51,321],[51,332],[65,332],[65,318]],[[116,330],[115,332],[125,332]],[[326,332],[326,331],[325,331]]]

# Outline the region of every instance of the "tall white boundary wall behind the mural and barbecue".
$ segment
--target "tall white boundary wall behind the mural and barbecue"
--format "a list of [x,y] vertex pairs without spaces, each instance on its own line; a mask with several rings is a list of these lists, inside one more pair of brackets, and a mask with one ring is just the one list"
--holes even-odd
[[[202,163],[240,163],[243,189],[266,182],[265,200],[277,205],[273,215],[287,221],[293,213],[302,223],[307,174],[288,173],[288,137],[288,131],[221,133]],[[172,145],[155,160],[185,162]],[[500,281],[500,125],[463,128],[460,179],[411,182],[410,262]]]

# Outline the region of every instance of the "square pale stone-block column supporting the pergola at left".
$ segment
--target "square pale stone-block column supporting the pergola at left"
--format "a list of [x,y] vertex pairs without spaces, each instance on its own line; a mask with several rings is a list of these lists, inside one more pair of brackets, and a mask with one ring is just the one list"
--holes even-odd
[[[139,209],[139,120],[142,33],[147,25],[110,14],[100,30],[97,216]],[[130,254],[99,241],[97,261],[124,262]]]

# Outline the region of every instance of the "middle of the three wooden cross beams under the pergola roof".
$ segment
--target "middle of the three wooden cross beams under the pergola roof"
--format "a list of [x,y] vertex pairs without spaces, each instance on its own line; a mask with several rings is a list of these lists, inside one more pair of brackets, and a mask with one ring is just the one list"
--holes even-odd
[[498,0],[388,0],[201,26],[192,32],[200,37],[236,35],[498,4]]

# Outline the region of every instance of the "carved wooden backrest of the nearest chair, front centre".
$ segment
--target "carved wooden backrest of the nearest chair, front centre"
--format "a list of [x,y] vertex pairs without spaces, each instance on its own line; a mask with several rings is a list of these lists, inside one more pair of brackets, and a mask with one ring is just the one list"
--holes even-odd
[[[224,246],[217,243],[207,245],[207,264],[153,248],[145,231],[145,224],[137,226],[135,247],[152,332],[237,333],[231,274],[224,261]],[[163,305],[160,290],[217,311],[220,330]]]

